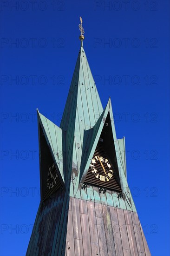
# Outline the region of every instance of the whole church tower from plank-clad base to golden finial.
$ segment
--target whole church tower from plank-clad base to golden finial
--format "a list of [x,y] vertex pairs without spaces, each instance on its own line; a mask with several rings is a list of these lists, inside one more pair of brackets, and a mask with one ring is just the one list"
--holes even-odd
[[60,127],[38,114],[41,201],[26,256],[150,256],[117,139],[81,47]]

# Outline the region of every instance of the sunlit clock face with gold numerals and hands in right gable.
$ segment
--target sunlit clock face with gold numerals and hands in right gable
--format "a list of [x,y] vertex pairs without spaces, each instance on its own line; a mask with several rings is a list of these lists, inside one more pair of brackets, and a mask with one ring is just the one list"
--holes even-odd
[[109,182],[113,176],[113,168],[107,158],[100,155],[93,157],[91,161],[91,171],[97,179],[102,182]]

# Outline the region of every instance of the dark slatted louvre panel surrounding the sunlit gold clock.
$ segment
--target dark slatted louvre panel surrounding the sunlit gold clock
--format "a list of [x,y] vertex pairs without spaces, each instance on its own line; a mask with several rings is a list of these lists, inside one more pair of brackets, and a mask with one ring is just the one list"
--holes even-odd
[[[95,158],[95,156],[102,156],[105,159],[109,159],[108,155],[106,154],[106,151],[104,149],[104,144],[101,141],[98,141],[98,145],[94,152],[93,159]],[[111,164],[111,161],[109,161],[109,163]],[[95,168],[98,170],[97,172],[99,173],[99,175],[105,176],[104,169],[102,168],[99,161],[96,161]],[[101,181],[99,178],[96,178],[94,173],[92,173],[92,168],[90,166],[89,170],[87,172],[87,175],[85,177],[85,182],[90,185],[94,185],[94,186],[98,186],[98,187],[102,187],[102,188],[107,188],[109,190],[121,192],[120,182],[119,182],[118,176],[116,174],[116,171],[114,170],[112,165],[111,165],[111,169],[113,170],[113,176],[111,177],[111,179],[109,179],[109,181],[105,180],[105,182],[104,182],[104,181]]]

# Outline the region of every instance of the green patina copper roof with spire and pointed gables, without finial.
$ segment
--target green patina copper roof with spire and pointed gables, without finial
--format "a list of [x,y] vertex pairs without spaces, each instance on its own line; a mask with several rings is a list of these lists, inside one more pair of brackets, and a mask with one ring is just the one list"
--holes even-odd
[[[84,199],[86,195],[81,191],[81,184],[85,180],[105,120],[109,115],[111,134],[108,139],[112,141],[113,150],[116,152],[120,184],[122,192],[126,194],[125,200],[116,199],[115,204],[123,209],[136,210],[127,184],[124,139],[118,140],[116,137],[111,99],[105,109],[102,107],[83,46],[78,53],[60,128],[39,112],[38,115],[39,125],[43,128],[67,193]],[[59,157],[59,152],[62,152],[62,157]],[[88,188],[87,194],[92,189]],[[118,195],[114,196],[116,198]]]

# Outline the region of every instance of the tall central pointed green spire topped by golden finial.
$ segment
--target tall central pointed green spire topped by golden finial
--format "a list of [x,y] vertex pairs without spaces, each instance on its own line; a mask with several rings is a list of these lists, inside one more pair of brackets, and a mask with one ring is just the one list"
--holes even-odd
[[73,169],[76,177],[78,176],[82,154],[88,150],[85,148],[86,141],[89,139],[91,129],[103,113],[98,90],[83,48],[84,29],[81,18],[80,21],[81,47],[60,124],[60,128],[66,132],[68,183]]

